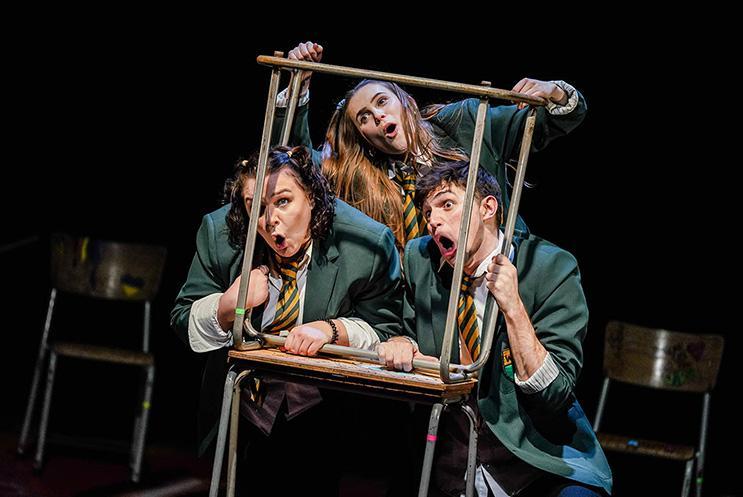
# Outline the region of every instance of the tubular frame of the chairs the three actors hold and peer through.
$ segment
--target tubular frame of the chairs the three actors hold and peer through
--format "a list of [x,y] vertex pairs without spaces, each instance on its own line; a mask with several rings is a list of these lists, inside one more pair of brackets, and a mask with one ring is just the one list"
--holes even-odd
[[[518,214],[519,203],[521,199],[521,190],[524,183],[524,177],[526,175],[526,164],[531,150],[531,141],[534,133],[534,127],[536,124],[536,108],[538,106],[544,106],[546,101],[539,97],[532,97],[529,95],[509,91],[501,90],[497,88],[491,88],[490,82],[483,81],[478,85],[469,85],[463,83],[455,83],[449,81],[434,80],[428,78],[420,78],[415,76],[407,76],[401,74],[393,74],[387,72],[371,71],[366,69],[357,69],[352,67],[334,66],[328,64],[322,64],[318,62],[305,62],[298,60],[291,60],[284,57],[283,52],[274,52],[271,56],[258,56],[258,63],[264,64],[271,67],[271,79],[268,90],[268,99],[266,102],[266,113],[263,121],[263,134],[261,138],[260,153],[258,157],[258,170],[256,172],[256,183],[254,196],[260,198],[262,196],[263,182],[266,175],[268,165],[268,151],[270,146],[270,137],[272,135],[275,102],[278,95],[279,80],[281,71],[290,72],[289,81],[289,103],[286,112],[286,118],[284,122],[284,128],[281,132],[280,144],[286,145],[289,140],[289,131],[291,130],[292,121],[296,111],[297,103],[299,101],[299,89],[302,71],[314,71],[319,73],[331,74],[336,76],[353,77],[353,78],[371,78],[383,81],[391,81],[395,83],[401,83],[409,86],[424,87],[430,89],[437,89],[449,92],[457,92],[478,97],[480,102],[477,111],[476,125],[474,136],[472,140],[472,153],[470,154],[470,168],[467,176],[467,187],[465,189],[465,200],[464,200],[464,212],[462,219],[470,219],[470,213],[475,198],[475,183],[477,179],[477,172],[480,167],[480,151],[482,149],[482,141],[485,131],[485,122],[487,112],[489,108],[489,101],[491,98],[510,100],[513,102],[521,102],[531,105],[527,118],[524,123],[524,132],[521,140],[521,149],[519,154],[519,162],[516,169],[516,180],[514,181],[514,187],[511,195],[511,203],[507,209],[507,221],[504,229],[504,243],[503,253],[505,254],[508,248],[511,246],[513,239],[513,233],[516,226],[516,218]],[[254,202],[249,218],[250,224],[247,230],[247,237],[245,242],[245,251],[243,254],[243,266],[240,280],[240,287],[238,291],[238,308],[235,312],[235,321],[232,328],[232,336],[234,340],[233,350],[230,352],[231,357],[239,361],[241,356],[239,352],[246,352],[251,350],[261,349],[263,347],[279,347],[284,344],[285,338],[281,336],[275,336],[271,334],[261,333],[259,330],[253,328],[250,322],[250,309],[245,309],[245,302],[248,293],[248,287],[250,282],[250,271],[251,262],[253,259],[253,252],[255,249],[255,240],[258,228],[258,217],[259,217],[260,203]],[[459,239],[466,240],[469,233],[469,223],[462,223],[459,229]],[[455,264],[452,281],[461,281],[462,274],[464,272],[464,262],[466,251],[458,251]],[[458,286],[452,285],[453,288]],[[481,354],[477,361],[473,364],[462,365],[453,364],[451,362],[451,353],[453,350],[454,340],[457,338],[455,334],[456,330],[456,319],[457,319],[457,304],[458,304],[457,292],[451,292],[448,308],[446,326],[443,338],[443,347],[441,351],[440,361],[413,361],[413,366],[419,370],[438,372],[440,379],[445,384],[457,384],[462,382],[469,382],[476,378],[478,372],[485,365],[489,358],[490,348],[495,335],[495,326],[497,323],[497,317],[499,308],[495,299],[492,295],[488,295],[488,302],[486,306],[486,312],[483,319],[483,330],[481,334],[482,346]],[[242,305],[241,305],[242,304]],[[247,335],[247,340],[243,337],[243,334]],[[346,358],[361,359],[376,362],[378,356],[375,352],[368,350],[355,349],[351,347],[341,347],[337,345],[324,345],[321,349],[322,353],[337,355]],[[262,367],[262,366],[261,366]],[[245,373],[244,371],[256,370],[260,372],[261,367],[251,369],[247,365],[236,366],[235,369],[228,373],[225,379],[224,397],[222,403],[222,412],[220,415],[219,423],[219,435],[217,440],[217,451],[214,456],[214,466],[212,471],[212,482],[210,497],[216,497],[219,488],[219,479],[221,473],[221,461],[225,449],[225,439],[227,433],[228,419],[230,418],[230,411],[232,410],[232,433],[236,436],[237,423],[235,417],[236,405],[238,404],[236,399],[239,399],[239,384],[245,375],[252,373]],[[244,368],[244,371],[240,371],[238,368]],[[309,375],[309,374],[308,374]],[[310,375],[311,376],[311,375]],[[316,379],[322,383],[323,379]],[[324,385],[328,386],[328,385]],[[359,393],[368,395],[374,395],[373,391],[370,391],[364,386],[358,386]],[[424,455],[423,472],[421,475],[421,481],[419,486],[419,496],[425,496],[428,494],[428,485],[430,481],[431,466],[433,462],[433,452],[436,445],[436,432],[438,430],[438,420],[443,410],[444,404],[450,404],[462,408],[470,419],[470,444],[469,444],[469,457],[468,457],[468,468],[467,468],[467,480],[465,494],[467,497],[474,495],[474,469],[475,469],[475,455],[477,451],[477,436],[474,428],[474,413],[469,412],[465,401],[467,395],[457,399],[454,402],[444,401],[439,399],[433,402],[433,409],[431,411],[431,417],[429,420],[429,436],[426,442],[426,452]],[[232,407],[231,407],[232,406]],[[229,448],[229,460],[230,464],[234,464],[234,451],[236,450],[236,443],[233,442],[233,437],[230,437],[230,448]],[[234,495],[234,466],[231,466],[230,472],[228,473],[228,490],[227,495],[232,497]]]

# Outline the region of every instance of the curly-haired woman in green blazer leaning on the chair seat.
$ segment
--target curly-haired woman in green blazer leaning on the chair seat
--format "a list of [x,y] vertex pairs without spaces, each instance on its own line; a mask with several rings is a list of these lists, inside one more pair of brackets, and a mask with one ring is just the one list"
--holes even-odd
[[[204,216],[196,255],[171,312],[179,337],[193,351],[208,354],[200,408],[202,452],[216,434],[248,213],[258,201],[253,197],[256,162],[237,164],[226,185],[230,203]],[[335,200],[305,148],[270,151],[260,202],[260,236],[246,303],[256,329],[287,330],[286,351],[307,356],[328,343],[372,348],[400,334],[402,287],[392,232]],[[352,461],[335,454],[341,441],[334,434],[364,430],[364,418],[349,419],[355,412],[338,400],[337,392],[270,378],[252,387],[244,387],[241,402],[250,422],[249,468],[239,471],[254,476],[251,491],[332,493],[344,462]],[[355,426],[357,421],[362,425]],[[320,439],[323,443],[317,443]]]

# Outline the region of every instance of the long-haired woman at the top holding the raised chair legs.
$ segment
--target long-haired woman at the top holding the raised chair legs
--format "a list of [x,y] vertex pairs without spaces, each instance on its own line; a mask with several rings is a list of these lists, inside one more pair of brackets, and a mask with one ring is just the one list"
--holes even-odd
[[[293,48],[289,59],[320,62],[324,48],[311,41]],[[292,143],[311,147],[307,123],[311,72],[303,74],[303,95],[293,126]],[[583,96],[564,81],[524,78],[513,91],[547,100],[537,109],[533,150],[575,129],[585,117]],[[280,96],[285,105],[285,96]],[[415,209],[415,180],[433,161],[467,160],[479,100],[468,98],[419,110],[395,83],[363,80],[337,105],[325,135],[323,171],[339,198],[389,226],[400,249],[405,241],[425,234],[425,219]],[[498,184],[506,184],[506,168],[519,155],[527,117],[524,104],[491,107],[485,120],[480,163]],[[505,205],[508,206],[508,194]],[[517,229],[528,229],[521,218]]]

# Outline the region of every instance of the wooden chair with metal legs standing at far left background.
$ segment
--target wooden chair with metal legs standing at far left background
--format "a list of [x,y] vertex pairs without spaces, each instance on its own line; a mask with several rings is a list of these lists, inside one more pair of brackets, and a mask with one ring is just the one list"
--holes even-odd
[[[53,235],[51,239],[51,282],[46,321],[39,345],[26,416],[21,430],[18,452],[26,452],[34,415],[39,383],[47,370],[46,389],[39,422],[34,468],[41,470],[54,375],[59,357],[126,364],[143,368],[144,384],[141,407],[134,423],[130,448],[131,479],[139,481],[147,431],[147,418],[155,378],[155,362],[149,350],[151,302],[160,286],[166,250],[164,247],[92,240],[69,235]],[[94,300],[141,302],[144,307],[143,339],[140,350],[112,348],[98,344],[51,342],[52,315],[58,293],[75,294]],[[106,323],[100,323],[103,327]],[[47,361],[47,354],[49,360]]]

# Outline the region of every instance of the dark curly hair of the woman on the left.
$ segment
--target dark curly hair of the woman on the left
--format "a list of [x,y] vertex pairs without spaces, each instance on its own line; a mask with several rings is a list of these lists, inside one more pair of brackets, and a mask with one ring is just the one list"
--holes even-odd
[[[274,147],[268,152],[267,174],[283,167],[295,174],[305,193],[314,203],[310,219],[310,234],[313,240],[322,240],[330,232],[335,214],[335,195],[319,168],[312,164],[310,151],[306,147]],[[225,203],[230,203],[227,213],[227,226],[230,230],[230,244],[243,248],[250,222],[245,209],[242,190],[245,180],[255,178],[258,170],[258,155],[239,160],[231,178],[224,184]]]

